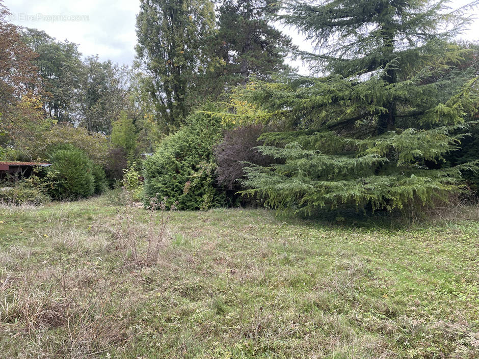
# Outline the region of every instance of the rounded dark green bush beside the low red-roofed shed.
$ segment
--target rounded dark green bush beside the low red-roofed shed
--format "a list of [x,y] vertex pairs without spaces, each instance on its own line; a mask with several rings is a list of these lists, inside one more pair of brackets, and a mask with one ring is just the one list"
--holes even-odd
[[[90,197],[95,189],[100,190],[103,186],[101,168],[95,167],[86,153],[74,146],[58,147],[50,154],[50,161],[48,178],[52,184],[49,193],[57,200]],[[98,184],[95,184],[95,177]]]

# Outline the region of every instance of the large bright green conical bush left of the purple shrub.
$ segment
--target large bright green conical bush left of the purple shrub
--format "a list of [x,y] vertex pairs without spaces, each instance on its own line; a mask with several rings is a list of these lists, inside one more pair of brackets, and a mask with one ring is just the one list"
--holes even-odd
[[224,206],[224,191],[214,180],[212,152],[222,139],[221,129],[220,120],[198,113],[165,137],[145,160],[145,198],[168,197],[168,208],[177,201],[177,208],[183,210]]

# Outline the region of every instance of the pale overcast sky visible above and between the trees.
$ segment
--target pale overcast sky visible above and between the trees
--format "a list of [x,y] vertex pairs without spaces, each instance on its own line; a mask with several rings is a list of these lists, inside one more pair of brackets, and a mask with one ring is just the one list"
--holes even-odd
[[[451,6],[466,3],[467,0],[456,0]],[[12,23],[44,30],[57,40],[75,42],[83,56],[98,54],[102,61],[110,59],[127,65],[135,58],[139,0],[4,0],[4,4],[12,13]],[[296,31],[286,32],[301,48],[307,48]],[[479,19],[462,38],[479,40]],[[302,67],[299,62],[294,66]]]

